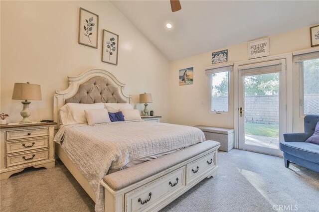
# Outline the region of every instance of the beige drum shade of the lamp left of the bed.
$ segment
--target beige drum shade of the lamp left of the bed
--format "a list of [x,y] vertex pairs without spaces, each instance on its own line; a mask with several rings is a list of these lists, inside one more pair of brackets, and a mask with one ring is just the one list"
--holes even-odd
[[12,100],[42,100],[40,85],[14,83]]

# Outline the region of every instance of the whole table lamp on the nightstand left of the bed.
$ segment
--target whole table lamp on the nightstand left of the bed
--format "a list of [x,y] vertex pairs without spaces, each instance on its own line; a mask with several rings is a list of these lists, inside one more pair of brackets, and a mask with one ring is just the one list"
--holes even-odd
[[24,100],[21,102],[23,104],[23,109],[20,112],[23,117],[19,123],[32,123],[28,119],[31,115],[29,110],[29,104],[27,100],[42,100],[41,98],[41,87],[40,85],[27,83],[14,83],[12,100]]

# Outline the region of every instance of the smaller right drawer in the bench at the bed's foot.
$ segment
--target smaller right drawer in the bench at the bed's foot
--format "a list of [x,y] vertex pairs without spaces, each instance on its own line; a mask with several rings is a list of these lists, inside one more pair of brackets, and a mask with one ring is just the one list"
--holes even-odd
[[199,177],[202,173],[213,169],[216,166],[215,154],[216,151],[213,151],[208,155],[188,163],[186,165],[186,182],[189,183]]

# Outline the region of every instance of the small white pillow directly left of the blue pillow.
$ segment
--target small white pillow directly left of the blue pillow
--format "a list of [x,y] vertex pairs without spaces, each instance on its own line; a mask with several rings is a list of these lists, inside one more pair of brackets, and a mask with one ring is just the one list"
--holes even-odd
[[108,110],[103,109],[85,109],[86,119],[89,125],[111,122]]

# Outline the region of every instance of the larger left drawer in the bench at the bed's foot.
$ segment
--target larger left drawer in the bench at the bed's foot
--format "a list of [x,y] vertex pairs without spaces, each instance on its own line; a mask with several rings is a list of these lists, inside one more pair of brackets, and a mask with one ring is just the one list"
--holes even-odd
[[172,171],[157,180],[150,182],[125,194],[126,211],[142,211],[154,204],[165,195],[174,194],[185,186],[185,166]]

